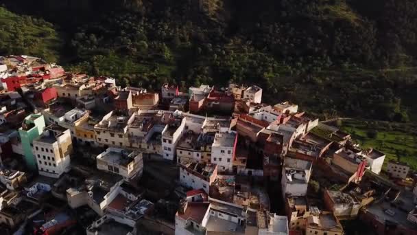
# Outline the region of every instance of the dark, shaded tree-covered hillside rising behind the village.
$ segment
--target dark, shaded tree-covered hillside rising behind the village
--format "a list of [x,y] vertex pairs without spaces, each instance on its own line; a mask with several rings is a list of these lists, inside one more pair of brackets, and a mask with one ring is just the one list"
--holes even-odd
[[[42,12],[22,2],[8,7]],[[126,0],[94,15],[95,1],[68,2],[56,3],[68,14],[40,14],[69,32],[63,61],[74,71],[150,89],[257,83],[266,102],[291,100],[324,117],[417,117],[413,0]]]

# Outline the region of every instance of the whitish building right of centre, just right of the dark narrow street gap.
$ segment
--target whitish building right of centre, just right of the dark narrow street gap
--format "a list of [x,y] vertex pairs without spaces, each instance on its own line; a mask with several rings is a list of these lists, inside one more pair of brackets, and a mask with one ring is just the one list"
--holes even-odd
[[283,167],[281,186],[283,198],[289,196],[305,196],[311,175],[311,161],[286,157]]

